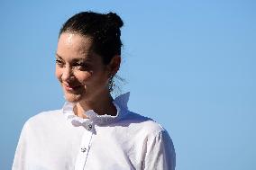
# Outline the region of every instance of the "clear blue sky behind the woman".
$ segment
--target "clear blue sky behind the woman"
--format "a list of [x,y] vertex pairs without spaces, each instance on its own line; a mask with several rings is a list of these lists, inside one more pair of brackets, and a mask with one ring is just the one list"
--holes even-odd
[[169,131],[178,170],[255,170],[255,9],[253,0],[0,1],[0,169],[11,168],[23,123],[64,103],[59,27],[92,10],[123,18],[123,93]]

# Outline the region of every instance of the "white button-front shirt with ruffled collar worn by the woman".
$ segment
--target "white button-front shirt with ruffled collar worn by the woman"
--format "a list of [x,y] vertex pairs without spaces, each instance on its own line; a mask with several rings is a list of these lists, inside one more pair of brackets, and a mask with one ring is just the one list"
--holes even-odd
[[116,116],[85,112],[72,103],[25,122],[13,170],[174,170],[175,151],[158,123],[127,108],[129,93],[114,100]]

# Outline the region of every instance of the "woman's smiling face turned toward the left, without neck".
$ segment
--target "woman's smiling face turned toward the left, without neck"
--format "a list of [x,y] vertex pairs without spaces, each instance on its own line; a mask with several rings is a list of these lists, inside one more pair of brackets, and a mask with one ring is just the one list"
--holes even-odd
[[91,40],[79,34],[59,36],[55,74],[69,102],[95,101],[108,92],[111,70],[91,46]]

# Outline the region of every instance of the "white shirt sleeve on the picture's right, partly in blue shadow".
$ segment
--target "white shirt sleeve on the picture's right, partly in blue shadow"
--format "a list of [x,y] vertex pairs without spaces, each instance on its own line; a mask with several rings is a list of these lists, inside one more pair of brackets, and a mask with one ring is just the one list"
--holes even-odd
[[149,137],[145,152],[144,170],[175,170],[175,149],[166,130]]

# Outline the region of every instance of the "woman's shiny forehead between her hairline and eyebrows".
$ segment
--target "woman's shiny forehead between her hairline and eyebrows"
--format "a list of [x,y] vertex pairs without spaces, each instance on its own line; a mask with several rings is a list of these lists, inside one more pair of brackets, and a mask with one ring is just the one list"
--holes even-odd
[[76,33],[64,32],[59,36],[57,54],[64,59],[89,58],[92,40]]

